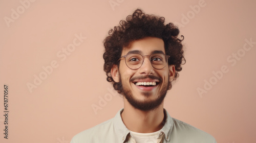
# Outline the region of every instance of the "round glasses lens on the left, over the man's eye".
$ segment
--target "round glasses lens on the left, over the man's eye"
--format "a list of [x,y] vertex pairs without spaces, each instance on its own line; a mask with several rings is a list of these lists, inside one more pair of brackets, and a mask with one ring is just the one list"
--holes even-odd
[[137,69],[143,63],[143,57],[140,54],[129,54],[125,57],[126,65],[129,68]]

